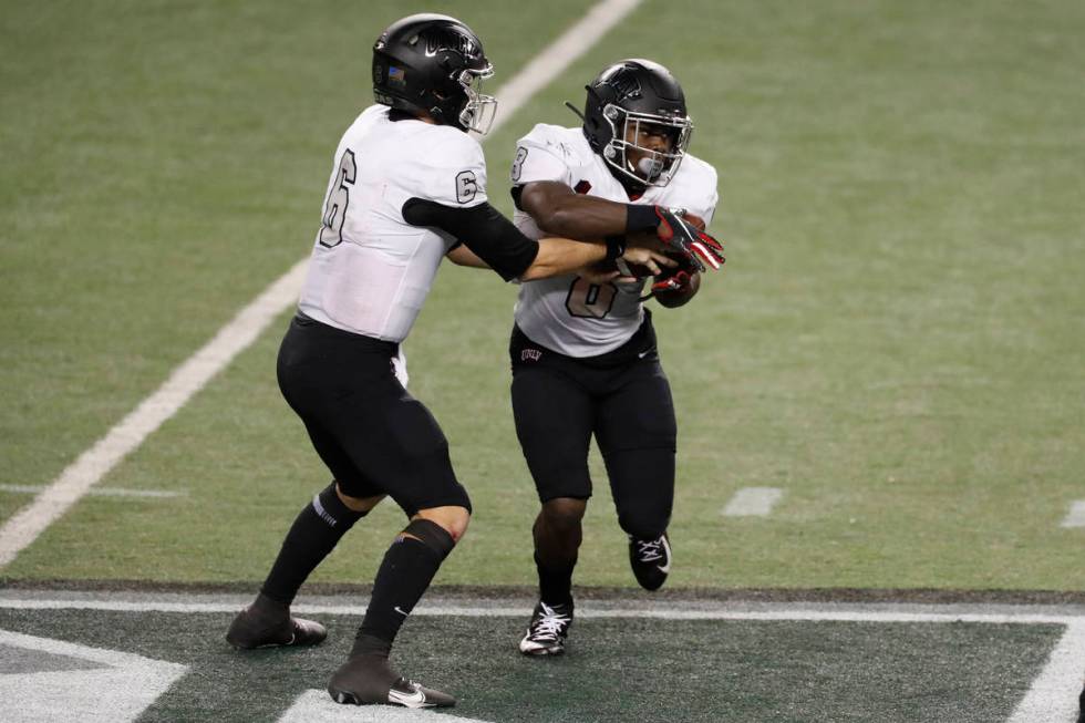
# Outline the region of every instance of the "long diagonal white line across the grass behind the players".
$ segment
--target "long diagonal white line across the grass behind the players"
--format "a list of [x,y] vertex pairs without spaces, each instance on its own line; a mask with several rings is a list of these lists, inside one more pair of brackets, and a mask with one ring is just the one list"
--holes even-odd
[[[493,133],[547,83],[583,55],[607,31],[621,22],[641,0],[602,0],[547,45],[508,83],[500,99]],[[45,489],[0,528],[0,568],[38,539],[128,453],[184,406],[215,374],[247,349],[271,321],[296,303],[309,258],[298,261],[271,283],[211,341],[174,370],[156,392],[83,452]]]

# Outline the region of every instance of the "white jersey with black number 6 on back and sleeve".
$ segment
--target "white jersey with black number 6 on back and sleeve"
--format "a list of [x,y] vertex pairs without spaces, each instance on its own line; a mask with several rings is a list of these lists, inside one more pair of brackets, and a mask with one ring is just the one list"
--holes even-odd
[[343,134],[298,308],[338,329],[401,342],[414,326],[447,234],[411,226],[403,204],[486,200],[486,161],[468,134],[365,109]]

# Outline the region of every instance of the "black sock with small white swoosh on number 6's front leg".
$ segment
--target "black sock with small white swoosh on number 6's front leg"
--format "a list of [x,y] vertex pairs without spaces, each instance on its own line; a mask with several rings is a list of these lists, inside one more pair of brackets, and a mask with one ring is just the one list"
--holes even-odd
[[443,527],[427,519],[415,519],[395,538],[384,554],[373,581],[373,595],[351,657],[379,653],[386,655],[403,621],[414,609],[437,568],[452,551],[455,541]]

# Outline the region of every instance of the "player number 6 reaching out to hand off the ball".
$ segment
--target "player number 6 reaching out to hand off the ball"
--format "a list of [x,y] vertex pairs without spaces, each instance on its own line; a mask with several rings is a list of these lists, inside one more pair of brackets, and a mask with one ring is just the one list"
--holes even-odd
[[404,18],[373,49],[376,104],[335,151],[297,316],[278,380],[333,482],[293,521],[259,595],[226,639],[238,649],[311,645],[327,631],[290,603],[339,539],[384,497],[406,513],[384,554],[347,662],[328,691],[339,703],[453,705],[401,676],[392,642],[467,529],[471,500],[426,407],[401,383],[400,344],[441,260],[484,261],[504,279],[569,273],[604,258],[652,266],[663,255],[622,241],[525,237],[486,199],[486,165],[467,131],[484,132],[493,74],[467,25],[438,14]]

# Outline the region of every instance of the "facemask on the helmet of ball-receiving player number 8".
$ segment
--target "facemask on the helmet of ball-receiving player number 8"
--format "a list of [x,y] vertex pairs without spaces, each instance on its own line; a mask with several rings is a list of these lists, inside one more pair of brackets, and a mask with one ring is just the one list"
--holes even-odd
[[[611,140],[602,149],[607,165],[641,186],[663,187],[671,182],[693,135],[693,122],[688,116],[638,113],[608,103],[602,117],[611,131]],[[644,131],[664,135],[668,145],[664,148],[639,145]]]

